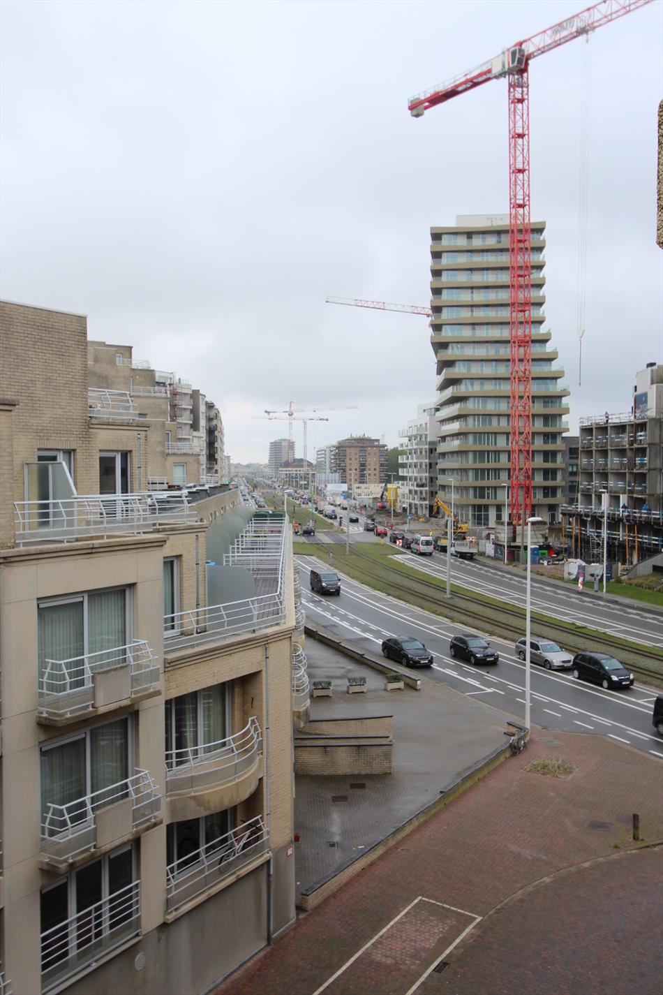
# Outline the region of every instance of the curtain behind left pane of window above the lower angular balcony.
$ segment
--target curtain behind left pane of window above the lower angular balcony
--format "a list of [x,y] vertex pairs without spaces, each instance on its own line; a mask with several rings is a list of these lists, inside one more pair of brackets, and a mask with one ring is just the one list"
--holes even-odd
[[84,806],[73,806],[87,793],[85,779],[85,740],[81,736],[60,746],[43,749],[41,754],[42,824],[47,836],[57,836],[66,828],[64,813],[52,812],[49,805],[68,805],[68,815],[76,823],[84,818]]

